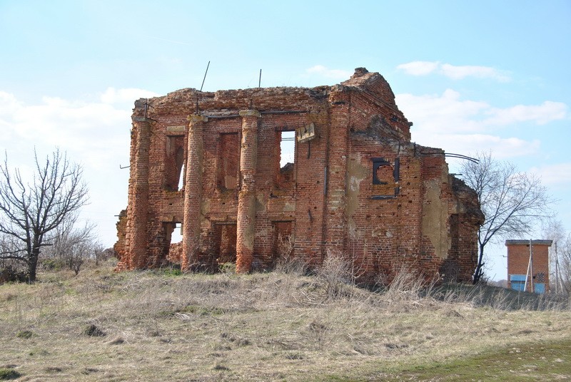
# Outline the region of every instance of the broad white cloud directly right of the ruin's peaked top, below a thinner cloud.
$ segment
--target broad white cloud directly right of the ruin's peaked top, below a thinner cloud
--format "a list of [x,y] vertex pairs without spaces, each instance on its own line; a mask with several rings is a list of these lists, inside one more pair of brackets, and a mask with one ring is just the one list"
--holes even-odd
[[541,105],[495,108],[489,103],[463,100],[460,93],[447,89],[441,95],[398,94],[398,107],[411,120],[413,141],[443,148],[450,153],[476,153],[492,150],[497,158],[531,155],[540,150],[540,140],[502,136],[500,128],[515,123],[542,125],[568,117],[567,105],[545,101]]

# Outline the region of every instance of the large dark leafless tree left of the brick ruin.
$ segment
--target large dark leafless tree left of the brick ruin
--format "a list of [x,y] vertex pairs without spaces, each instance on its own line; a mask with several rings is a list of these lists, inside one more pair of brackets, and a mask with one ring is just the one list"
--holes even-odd
[[82,168],[56,150],[40,162],[34,152],[35,168],[30,182],[18,169],[11,171],[8,156],[0,164],[0,258],[14,259],[27,266],[29,282],[36,281],[41,248],[51,232],[87,202]]

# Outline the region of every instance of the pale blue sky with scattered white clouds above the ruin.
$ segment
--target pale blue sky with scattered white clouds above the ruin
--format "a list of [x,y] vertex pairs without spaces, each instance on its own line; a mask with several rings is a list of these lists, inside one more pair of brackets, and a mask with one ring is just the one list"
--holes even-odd
[[[542,175],[571,229],[571,1],[0,0],[0,148],[83,163],[114,241],[133,100],[179,88],[332,85],[381,73],[421,145]],[[455,164],[451,164],[454,170]],[[505,278],[505,247],[489,274]]]

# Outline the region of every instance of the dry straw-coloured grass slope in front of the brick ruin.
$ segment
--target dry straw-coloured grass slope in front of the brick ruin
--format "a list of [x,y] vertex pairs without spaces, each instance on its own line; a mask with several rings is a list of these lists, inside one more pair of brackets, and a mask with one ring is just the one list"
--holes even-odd
[[473,287],[427,296],[405,273],[372,292],[334,269],[316,277],[111,269],[0,286],[0,368],[19,381],[368,380],[571,336],[569,301],[513,309],[512,296]]

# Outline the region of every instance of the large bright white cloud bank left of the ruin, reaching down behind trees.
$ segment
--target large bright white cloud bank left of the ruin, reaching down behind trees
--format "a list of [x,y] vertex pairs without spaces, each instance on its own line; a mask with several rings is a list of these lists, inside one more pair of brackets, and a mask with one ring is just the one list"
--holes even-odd
[[[34,149],[39,160],[59,147],[84,166],[90,204],[83,218],[98,224],[104,244],[115,237],[118,212],[126,206],[131,109],[137,98],[155,96],[142,89],[108,88],[96,101],[44,97],[26,104],[0,91],[0,147],[10,167],[31,174]],[[1,158],[1,157],[0,157]]]

